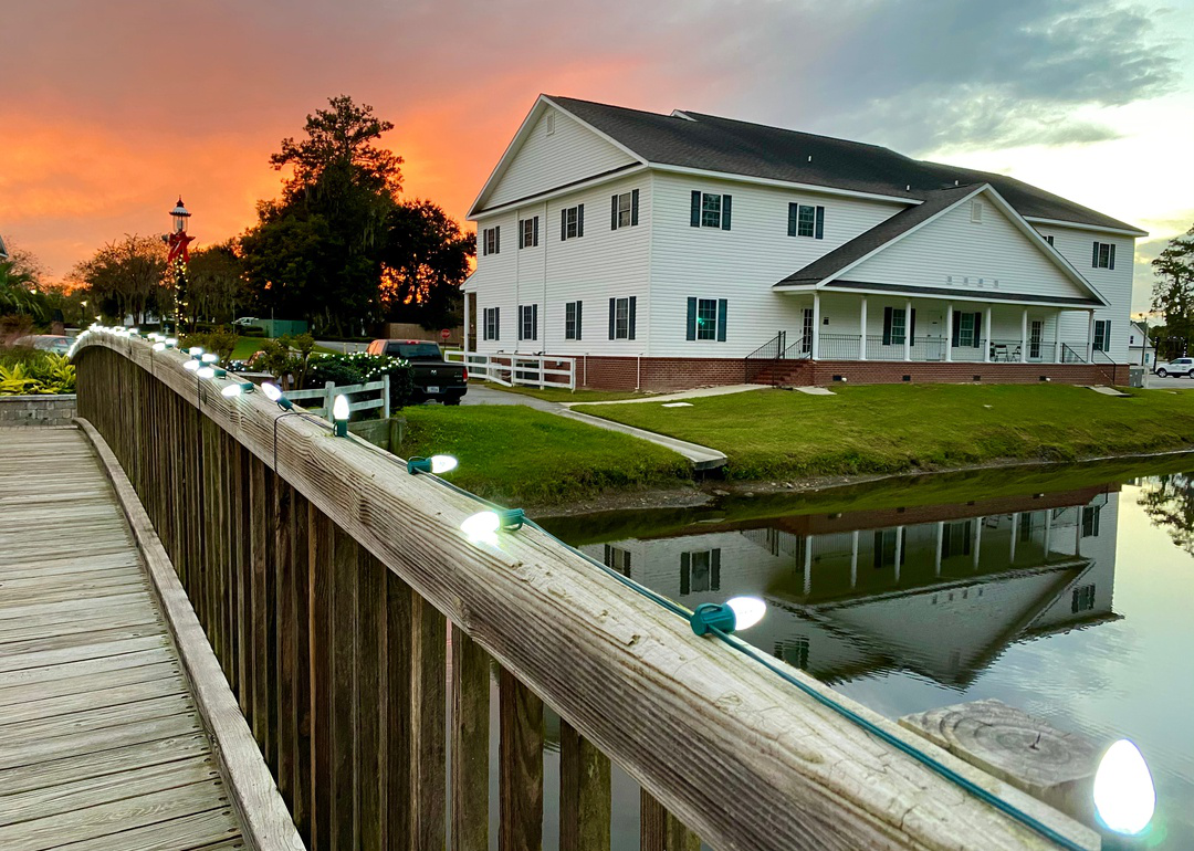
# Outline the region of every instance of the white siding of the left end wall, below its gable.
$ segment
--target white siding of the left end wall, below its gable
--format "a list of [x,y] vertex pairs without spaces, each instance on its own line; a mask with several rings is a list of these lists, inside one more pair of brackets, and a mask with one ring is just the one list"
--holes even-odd
[[[559,130],[556,130],[559,132]],[[614,230],[610,202],[615,193],[639,190],[639,224]],[[560,239],[561,210],[585,205],[584,236]],[[505,214],[482,216],[478,233],[501,226],[501,252],[478,258],[474,278],[478,307],[476,351],[481,353],[546,352],[646,354],[650,341],[648,245],[652,193],[645,174],[610,180],[548,202]],[[519,218],[540,217],[538,246],[518,248]],[[609,300],[636,297],[635,339],[609,339]],[[581,339],[566,340],[565,304],[580,301]],[[515,315],[519,304],[538,304],[538,338],[518,340]],[[484,309],[501,308],[501,339],[485,340]]]

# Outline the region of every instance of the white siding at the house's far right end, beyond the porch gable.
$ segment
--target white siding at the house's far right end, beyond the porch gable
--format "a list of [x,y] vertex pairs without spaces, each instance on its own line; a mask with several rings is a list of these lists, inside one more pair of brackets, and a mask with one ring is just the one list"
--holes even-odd
[[[1110,307],[1095,310],[1096,320],[1112,323],[1112,346],[1107,354],[1115,363],[1128,363],[1128,337],[1132,334],[1132,267],[1135,239],[1082,230],[1078,228],[1057,228],[1040,226],[1042,236],[1053,238],[1053,247],[1069,260],[1078,273],[1087,278],[1095,289],[1110,302]],[[1095,269],[1091,263],[1091,247],[1095,242],[1109,242],[1115,246],[1115,269]],[[1087,314],[1070,313],[1061,322],[1061,339],[1075,351],[1085,352]],[[1135,362],[1139,363],[1139,352]]]

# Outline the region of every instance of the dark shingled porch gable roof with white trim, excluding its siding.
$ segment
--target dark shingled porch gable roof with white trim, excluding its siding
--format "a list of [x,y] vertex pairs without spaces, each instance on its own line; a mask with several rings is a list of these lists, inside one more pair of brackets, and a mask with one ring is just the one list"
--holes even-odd
[[[927,226],[933,220],[943,216],[949,210],[960,206],[979,195],[985,196],[997,210],[1003,212],[1003,215],[1011,221],[1016,229],[1020,230],[1038,248],[1038,251],[1041,252],[1041,254],[1057,266],[1071,283],[1073,283],[1079,290],[1089,294],[1089,297],[1082,298],[1057,298],[1052,296],[1034,298],[1033,296],[1011,296],[1010,294],[1005,294],[1004,297],[1029,301],[1060,301],[1081,304],[1094,303],[1106,306],[1108,303],[1107,300],[1103,298],[1102,294],[1095,289],[1094,284],[1087,280],[1087,278],[1083,277],[1057,248],[1038,234],[1033,227],[1023,220],[1020,212],[1017,212],[1016,209],[999,195],[998,190],[986,183],[978,186],[954,186],[952,189],[933,192],[924,203],[909,208],[907,210],[901,210],[894,216],[884,220],[869,230],[866,230],[855,236],[853,240],[839,245],[827,254],[817,258],[807,266],[796,270],[783,280],[774,284],[774,286],[781,289],[792,286],[821,286],[830,282],[855,288],[863,286],[863,284],[858,282],[838,280],[838,277],[848,272],[850,269],[858,266],[872,255],[878,254],[884,248],[898,242],[918,228]],[[879,289],[892,289],[885,288],[881,284],[866,285],[878,286]],[[935,291],[937,294],[946,295],[953,292],[952,290],[940,288],[916,286],[915,289],[922,291]],[[987,294],[986,297],[997,298],[998,296]]]

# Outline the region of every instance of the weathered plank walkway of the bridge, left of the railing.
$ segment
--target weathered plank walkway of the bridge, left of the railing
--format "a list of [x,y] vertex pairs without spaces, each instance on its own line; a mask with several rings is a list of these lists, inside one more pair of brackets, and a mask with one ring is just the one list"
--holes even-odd
[[0,428],[0,849],[245,845],[87,439]]

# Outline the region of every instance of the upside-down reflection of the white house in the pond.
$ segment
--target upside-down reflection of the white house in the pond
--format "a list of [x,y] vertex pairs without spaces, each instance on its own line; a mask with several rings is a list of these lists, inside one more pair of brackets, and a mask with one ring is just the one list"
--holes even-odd
[[689,608],[762,596],[741,637],[823,680],[906,670],[964,687],[1014,641],[1119,617],[1118,499],[800,514],[583,549]]

